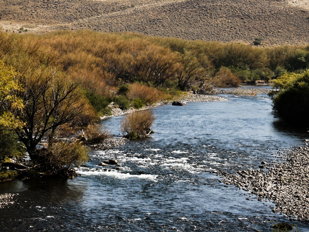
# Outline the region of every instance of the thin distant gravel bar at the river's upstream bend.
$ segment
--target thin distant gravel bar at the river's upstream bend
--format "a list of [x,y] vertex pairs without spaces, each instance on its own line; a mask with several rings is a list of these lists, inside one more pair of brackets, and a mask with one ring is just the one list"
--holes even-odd
[[214,90],[216,94],[226,94],[234,96],[256,96],[257,94],[268,94],[269,88],[218,88]]

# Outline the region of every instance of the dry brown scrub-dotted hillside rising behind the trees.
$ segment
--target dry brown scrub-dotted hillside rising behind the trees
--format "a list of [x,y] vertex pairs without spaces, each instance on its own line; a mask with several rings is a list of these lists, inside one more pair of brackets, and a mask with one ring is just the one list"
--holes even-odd
[[0,0],[0,6],[0,24],[48,25],[45,30],[88,28],[244,43],[262,37],[265,45],[309,43],[309,10],[286,0]]

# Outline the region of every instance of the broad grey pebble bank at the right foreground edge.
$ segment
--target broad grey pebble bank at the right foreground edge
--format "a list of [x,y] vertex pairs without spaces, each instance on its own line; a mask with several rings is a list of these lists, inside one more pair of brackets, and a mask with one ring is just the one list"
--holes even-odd
[[259,169],[220,173],[222,181],[250,192],[247,200],[272,201],[275,213],[309,220],[309,147],[281,151],[283,162],[262,161]]

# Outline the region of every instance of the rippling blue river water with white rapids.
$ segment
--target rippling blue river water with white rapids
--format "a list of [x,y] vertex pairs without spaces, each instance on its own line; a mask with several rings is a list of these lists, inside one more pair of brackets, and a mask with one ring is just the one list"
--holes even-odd
[[[280,161],[279,150],[309,137],[278,122],[267,95],[228,97],[153,109],[150,139],[91,152],[77,178],[1,183],[19,204],[0,209],[0,231],[271,231],[278,222],[309,231],[214,173]],[[121,118],[102,124],[119,135]],[[120,168],[97,166],[107,159]]]

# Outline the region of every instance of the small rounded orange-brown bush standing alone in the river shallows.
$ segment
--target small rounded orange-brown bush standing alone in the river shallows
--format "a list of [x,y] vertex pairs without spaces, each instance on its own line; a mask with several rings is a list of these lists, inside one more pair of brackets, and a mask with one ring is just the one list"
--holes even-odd
[[155,121],[151,110],[142,110],[128,114],[121,121],[121,131],[129,139],[145,138],[151,132],[150,127]]

